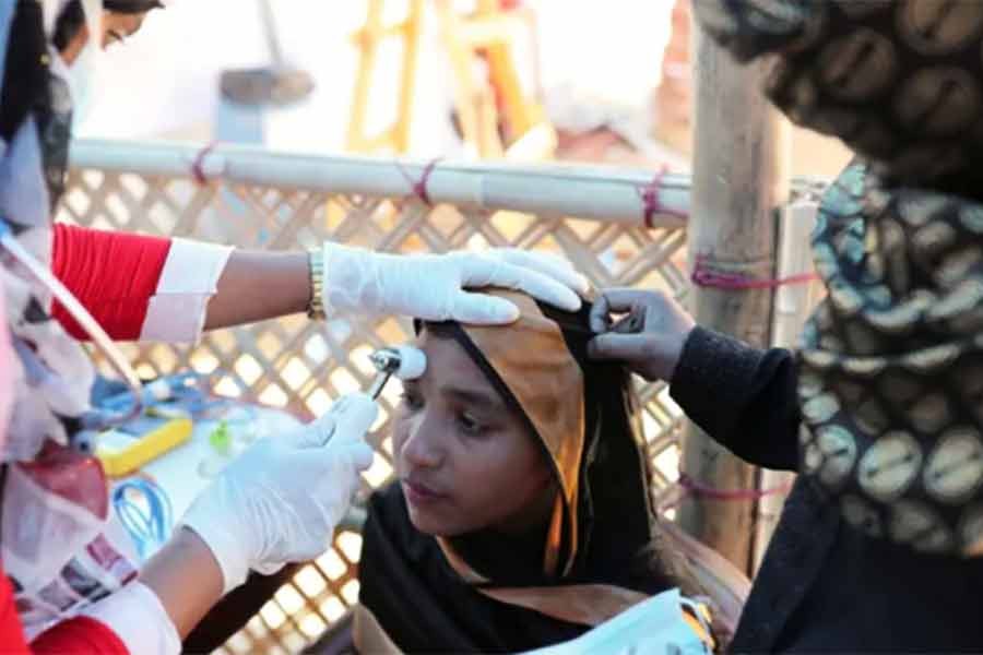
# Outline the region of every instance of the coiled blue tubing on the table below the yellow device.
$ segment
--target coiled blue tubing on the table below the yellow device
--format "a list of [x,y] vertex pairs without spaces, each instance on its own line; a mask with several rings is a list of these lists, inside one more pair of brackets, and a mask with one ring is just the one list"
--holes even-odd
[[167,543],[174,526],[170,499],[156,483],[132,478],[112,490],[112,508],[127,529],[141,561]]

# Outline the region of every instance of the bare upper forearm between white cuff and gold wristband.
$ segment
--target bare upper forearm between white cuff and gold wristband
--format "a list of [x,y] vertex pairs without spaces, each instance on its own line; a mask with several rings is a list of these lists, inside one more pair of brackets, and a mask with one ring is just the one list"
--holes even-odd
[[209,301],[205,330],[306,311],[310,293],[307,253],[235,250]]

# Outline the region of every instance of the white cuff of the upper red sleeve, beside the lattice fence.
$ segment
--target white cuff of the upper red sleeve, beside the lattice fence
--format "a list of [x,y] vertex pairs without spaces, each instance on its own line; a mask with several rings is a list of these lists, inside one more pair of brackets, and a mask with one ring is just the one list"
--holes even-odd
[[209,300],[232,254],[230,246],[175,238],[146,308],[140,341],[196,343]]

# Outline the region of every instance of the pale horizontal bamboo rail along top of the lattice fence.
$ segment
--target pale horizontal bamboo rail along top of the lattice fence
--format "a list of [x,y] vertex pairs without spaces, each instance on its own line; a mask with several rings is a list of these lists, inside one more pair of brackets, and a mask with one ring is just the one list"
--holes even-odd
[[[209,180],[229,184],[257,184],[303,189],[322,193],[371,198],[405,198],[413,193],[410,180],[419,180],[429,163],[408,158],[301,155],[269,148],[220,144],[164,143],[161,141],[72,141],[69,164],[75,170],[134,174],[149,179],[192,179],[199,168]],[[197,165],[197,166],[196,166]],[[651,225],[676,228],[690,213],[690,177],[660,177],[660,204]],[[559,164],[496,164],[440,162],[427,180],[434,204],[452,204],[489,211],[511,210],[543,216],[576,216],[625,225],[641,225],[641,191],[651,184],[651,170]],[[821,186],[815,179],[796,180],[802,193]]]

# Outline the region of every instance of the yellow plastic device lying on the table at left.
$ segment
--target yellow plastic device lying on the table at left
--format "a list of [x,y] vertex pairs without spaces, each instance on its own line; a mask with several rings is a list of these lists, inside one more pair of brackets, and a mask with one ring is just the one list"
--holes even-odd
[[123,477],[181,445],[192,431],[186,414],[151,408],[126,426],[100,433],[96,456],[106,475]]

